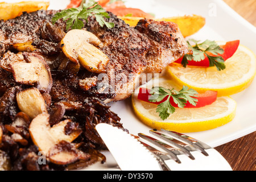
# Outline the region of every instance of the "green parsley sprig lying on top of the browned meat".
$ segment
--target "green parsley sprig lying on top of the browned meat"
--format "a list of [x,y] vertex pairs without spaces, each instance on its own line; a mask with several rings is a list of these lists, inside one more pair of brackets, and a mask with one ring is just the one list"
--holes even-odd
[[101,27],[104,25],[108,28],[114,27],[114,23],[105,21],[105,18],[110,18],[109,14],[106,13],[106,10],[94,0],[87,0],[80,7],[70,8],[56,13],[52,18],[52,23],[55,24],[57,20],[63,19],[64,21],[67,20],[67,30],[69,30],[69,28],[82,29],[82,27],[84,27],[84,22],[82,22],[81,19],[85,19],[86,22],[88,22],[88,17],[93,15],[96,17],[96,20],[100,23]]

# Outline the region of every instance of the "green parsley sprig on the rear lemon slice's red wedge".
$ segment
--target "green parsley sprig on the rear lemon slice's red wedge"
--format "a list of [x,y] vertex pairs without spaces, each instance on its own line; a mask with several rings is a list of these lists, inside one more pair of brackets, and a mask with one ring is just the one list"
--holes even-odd
[[[195,46],[191,46],[189,41],[195,43]],[[195,39],[189,39],[188,48],[189,53],[184,55],[183,60],[181,61],[181,64],[183,67],[187,67],[188,61],[201,61],[205,59],[205,56],[208,57],[209,60],[209,66],[210,67],[216,67],[218,71],[224,70],[226,68],[225,61],[223,57],[217,56],[222,55],[224,53],[224,50],[218,46],[218,44],[211,40],[205,40],[203,43],[199,43],[199,41]],[[192,53],[191,53],[192,52]],[[212,53],[212,55],[209,55],[209,53]]]

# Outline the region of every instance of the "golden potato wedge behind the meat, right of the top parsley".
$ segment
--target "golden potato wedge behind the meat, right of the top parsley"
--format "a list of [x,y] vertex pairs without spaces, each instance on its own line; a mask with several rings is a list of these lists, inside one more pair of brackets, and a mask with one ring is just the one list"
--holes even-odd
[[[124,20],[131,27],[135,27],[139,22],[139,20],[143,19],[141,17],[132,17],[132,16],[129,16],[129,17],[122,16],[119,18]],[[161,19],[154,19],[154,20],[176,23],[179,26],[180,31],[184,36],[184,38],[195,34],[205,25],[205,18],[199,15],[177,16],[177,17],[161,18]]]

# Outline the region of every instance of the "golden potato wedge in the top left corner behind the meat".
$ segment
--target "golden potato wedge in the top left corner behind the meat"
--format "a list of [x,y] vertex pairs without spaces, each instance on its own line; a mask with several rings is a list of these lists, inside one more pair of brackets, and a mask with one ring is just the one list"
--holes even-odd
[[13,19],[22,15],[22,12],[27,11],[31,13],[38,10],[47,10],[49,2],[43,1],[27,1],[18,3],[0,3],[0,19],[7,20]]

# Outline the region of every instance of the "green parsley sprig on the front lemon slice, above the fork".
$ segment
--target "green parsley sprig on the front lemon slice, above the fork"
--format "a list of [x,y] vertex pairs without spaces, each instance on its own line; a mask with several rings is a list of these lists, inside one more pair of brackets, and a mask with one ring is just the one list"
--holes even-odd
[[170,114],[175,112],[175,107],[171,105],[171,98],[174,100],[175,104],[178,107],[184,108],[184,106],[189,102],[193,106],[196,106],[198,102],[198,97],[196,94],[196,90],[189,89],[187,86],[183,86],[183,88],[177,92],[174,89],[166,89],[163,87],[156,86],[150,90],[151,97],[148,101],[150,102],[161,102],[164,98],[168,97],[166,101],[162,102],[156,108],[156,112],[159,113],[159,117],[162,120],[166,120]]

